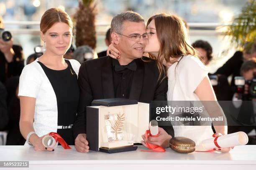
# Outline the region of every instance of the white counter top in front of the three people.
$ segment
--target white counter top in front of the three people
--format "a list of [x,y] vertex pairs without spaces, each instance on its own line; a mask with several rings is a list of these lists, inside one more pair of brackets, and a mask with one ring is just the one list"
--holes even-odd
[[[167,148],[166,152],[141,152],[145,150],[143,146],[139,146],[136,151],[114,154],[93,151],[79,153],[74,146],[71,147],[71,150],[64,150],[58,146],[53,152],[38,152],[34,151],[33,147],[0,146],[0,161],[29,161],[30,169],[36,170],[49,167],[60,167],[61,170],[81,167],[103,168],[104,170],[152,167],[176,167],[179,170],[181,167],[207,168],[207,170],[232,167],[232,170],[241,170],[241,168],[256,170],[256,145],[235,147],[228,153],[193,152],[189,154],[177,153],[170,148]],[[220,167],[223,168],[220,169]]]

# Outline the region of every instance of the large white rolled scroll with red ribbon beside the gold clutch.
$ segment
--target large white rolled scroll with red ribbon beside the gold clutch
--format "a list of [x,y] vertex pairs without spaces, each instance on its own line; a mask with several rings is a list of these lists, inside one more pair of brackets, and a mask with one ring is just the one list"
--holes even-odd
[[[207,150],[212,150],[216,147],[214,139],[215,137],[203,140],[201,142],[202,147]],[[248,136],[245,132],[231,133],[218,137],[217,143],[220,147],[234,147],[239,145],[246,145],[248,143]]]

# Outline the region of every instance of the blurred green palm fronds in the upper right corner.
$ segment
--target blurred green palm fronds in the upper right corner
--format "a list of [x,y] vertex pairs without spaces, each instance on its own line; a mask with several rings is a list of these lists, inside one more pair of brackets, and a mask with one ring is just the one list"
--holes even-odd
[[228,25],[227,35],[236,47],[246,42],[253,43],[256,38],[256,0],[248,0],[241,13]]

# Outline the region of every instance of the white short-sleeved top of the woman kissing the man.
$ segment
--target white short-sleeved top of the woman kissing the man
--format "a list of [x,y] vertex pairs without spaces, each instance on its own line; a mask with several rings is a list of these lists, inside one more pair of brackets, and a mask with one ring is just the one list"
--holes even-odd
[[[195,56],[183,56],[169,67],[168,101],[200,101],[195,89],[208,76],[206,66]],[[175,137],[188,137],[199,145],[202,140],[212,137],[211,126],[173,126]]]

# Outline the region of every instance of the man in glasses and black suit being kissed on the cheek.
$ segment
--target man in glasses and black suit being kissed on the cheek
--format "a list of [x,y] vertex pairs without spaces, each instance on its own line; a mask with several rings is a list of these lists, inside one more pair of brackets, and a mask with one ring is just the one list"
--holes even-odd
[[[144,19],[138,13],[126,11],[111,21],[111,37],[121,52],[119,60],[105,56],[85,61],[79,69],[80,101],[73,125],[75,147],[78,152],[88,152],[86,140],[86,107],[94,99],[127,98],[150,103],[167,100],[167,79],[159,82],[156,63],[143,57],[147,42]],[[154,116],[152,116],[154,117]],[[163,127],[159,142],[169,145],[174,136],[172,126]]]

